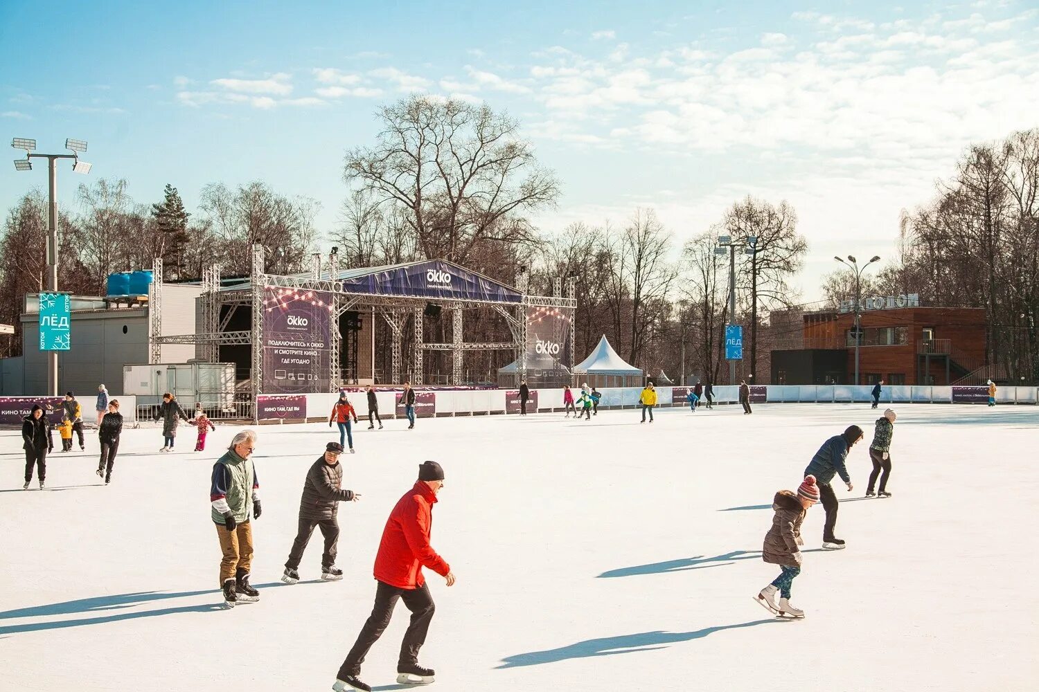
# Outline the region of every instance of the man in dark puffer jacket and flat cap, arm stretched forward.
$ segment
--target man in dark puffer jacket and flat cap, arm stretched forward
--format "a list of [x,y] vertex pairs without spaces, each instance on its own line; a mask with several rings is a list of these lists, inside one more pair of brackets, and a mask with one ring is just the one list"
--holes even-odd
[[329,442],[325,452],[307,472],[303,480],[303,494],[299,498],[299,526],[296,539],[289,551],[289,559],[285,562],[285,574],[282,581],[295,584],[299,581],[299,562],[303,559],[303,551],[311,541],[314,527],[321,529],[324,537],[324,552],[321,554],[321,579],[339,581],[343,571],[336,566],[336,547],[339,542],[339,503],[356,502],[361,493],[343,490],[343,465],[339,455],[343,453],[343,445]]

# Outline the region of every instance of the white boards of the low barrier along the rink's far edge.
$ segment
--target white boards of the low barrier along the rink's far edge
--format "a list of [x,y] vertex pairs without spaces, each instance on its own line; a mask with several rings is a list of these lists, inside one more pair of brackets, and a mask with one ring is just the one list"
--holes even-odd
[[[681,389],[674,396],[674,389]],[[969,388],[978,390],[983,388]],[[658,407],[686,407],[685,391],[687,387],[658,387]],[[427,390],[416,388],[417,392]],[[472,389],[472,390],[432,390],[435,417],[446,416],[494,416],[506,413],[506,396],[508,389]],[[563,406],[563,389],[536,389],[538,412],[561,412]],[[580,396],[580,388],[572,389],[574,398]],[[600,390],[603,394],[600,409],[636,409],[639,407],[641,387],[609,387]],[[868,404],[873,402],[873,387],[869,385],[753,385],[753,406],[765,404]],[[714,403],[718,405],[738,404],[740,388],[736,385],[716,385]],[[379,416],[383,419],[402,418],[397,414],[396,402],[400,390],[377,391]],[[332,405],[339,398],[336,393],[304,394],[307,398],[305,418],[282,418],[263,420],[262,424],[326,422],[331,414]],[[764,397],[764,399],[763,399]],[[126,398],[126,397],[121,397]],[[359,424],[364,425],[368,418],[368,395],[366,392],[347,392],[347,398],[357,412]],[[756,399],[756,400],[755,400]],[[1035,387],[1000,387],[996,390],[996,403],[1003,405],[1036,405],[1039,404],[1039,390]],[[975,403],[984,403],[987,398],[979,398]],[[880,403],[893,404],[953,404],[953,387],[932,386],[887,386],[885,385]],[[969,403],[956,402],[960,405]],[[530,410],[533,412],[532,410]]]

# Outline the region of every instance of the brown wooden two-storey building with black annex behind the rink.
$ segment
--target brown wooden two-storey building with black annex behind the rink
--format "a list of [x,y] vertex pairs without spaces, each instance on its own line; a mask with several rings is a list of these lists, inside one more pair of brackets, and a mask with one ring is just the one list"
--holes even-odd
[[[984,308],[905,307],[860,313],[860,385],[982,384]],[[855,384],[855,313],[803,315],[803,348],[772,352],[772,383]]]

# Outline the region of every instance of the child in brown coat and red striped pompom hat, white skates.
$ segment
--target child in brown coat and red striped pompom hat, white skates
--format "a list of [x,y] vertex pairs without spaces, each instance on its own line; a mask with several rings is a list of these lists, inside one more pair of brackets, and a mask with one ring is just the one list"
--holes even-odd
[[[819,487],[816,477],[808,475],[797,489],[797,493],[781,490],[772,499],[772,528],[765,534],[762,559],[779,565],[779,576],[757,592],[757,603],[777,615],[804,617],[804,611],[790,602],[791,585],[801,574],[801,522],[808,508],[819,502]],[[775,602],[776,591],[779,603]]]

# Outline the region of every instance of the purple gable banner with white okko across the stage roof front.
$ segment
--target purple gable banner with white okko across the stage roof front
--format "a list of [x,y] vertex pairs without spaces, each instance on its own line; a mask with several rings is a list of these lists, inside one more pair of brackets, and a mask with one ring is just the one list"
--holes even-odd
[[523,294],[482,274],[441,259],[418,261],[343,281],[343,290],[375,296],[416,296],[445,300],[523,302]]

